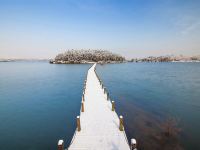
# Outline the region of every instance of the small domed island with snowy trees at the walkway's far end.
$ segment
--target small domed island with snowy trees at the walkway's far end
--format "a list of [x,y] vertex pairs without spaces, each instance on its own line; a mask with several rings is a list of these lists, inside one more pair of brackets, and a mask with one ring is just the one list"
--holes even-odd
[[122,63],[125,58],[106,50],[67,50],[50,60],[52,64]]

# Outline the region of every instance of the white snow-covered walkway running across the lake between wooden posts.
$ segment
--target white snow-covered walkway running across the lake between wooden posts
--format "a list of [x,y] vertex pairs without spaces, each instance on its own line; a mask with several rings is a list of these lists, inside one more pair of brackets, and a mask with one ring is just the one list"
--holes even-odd
[[69,150],[130,150],[119,118],[101,88],[94,64],[87,75],[84,112],[80,112],[81,131],[75,131]]

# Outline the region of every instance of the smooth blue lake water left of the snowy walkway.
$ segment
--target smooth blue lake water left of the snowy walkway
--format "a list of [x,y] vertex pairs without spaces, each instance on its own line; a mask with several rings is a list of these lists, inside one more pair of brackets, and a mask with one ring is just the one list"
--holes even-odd
[[90,65],[0,63],[0,149],[55,150],[69,144]]

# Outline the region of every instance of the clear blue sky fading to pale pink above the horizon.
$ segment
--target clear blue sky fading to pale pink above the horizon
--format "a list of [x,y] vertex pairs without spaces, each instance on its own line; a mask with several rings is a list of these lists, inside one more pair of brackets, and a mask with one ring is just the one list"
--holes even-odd
[[200,54],[200,0],[0,0],[0,58]]

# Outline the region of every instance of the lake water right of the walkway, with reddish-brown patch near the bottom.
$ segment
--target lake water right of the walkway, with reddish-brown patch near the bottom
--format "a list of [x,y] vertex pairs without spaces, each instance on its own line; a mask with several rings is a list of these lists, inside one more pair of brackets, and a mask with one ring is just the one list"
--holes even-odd
[[97,67],[141,149],[200,149],[199,63],[127,63]]

